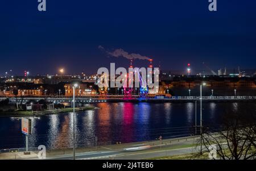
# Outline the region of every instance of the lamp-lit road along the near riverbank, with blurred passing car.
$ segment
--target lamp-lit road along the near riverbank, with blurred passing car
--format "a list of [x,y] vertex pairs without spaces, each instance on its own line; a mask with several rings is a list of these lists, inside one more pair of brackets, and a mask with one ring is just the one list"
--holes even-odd
[[[196,144],[199,143],[199,136],[179,137],[173,139],[162,140],[160,144],[159,140],[144,141],[137,143],[127,143],[118,145],[108,145],[98,147],[98,151],[82,152],[77,149],[76,159],[80,160],[136,160],[136,159],[152,159],[155,157],[184,155],[199,152],[199,147]],[[131,147],[145,147],[140,151],[126,151],[126,148]],[[16,154],[18,159],[38,159],[37,152],[33,152],[31,156],[24,156],[22,152]],[[12,153],[3,153],[0,159],[16,159]],[[67,154],[61,154],[58,151],[48,152],[46,156],[47,160],[72,160],[72,151],[67,151]]]

